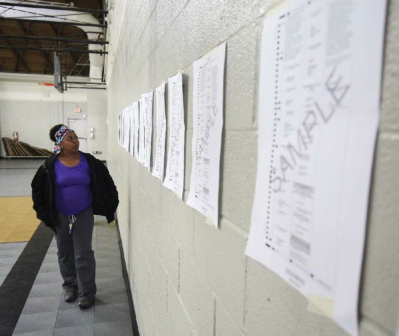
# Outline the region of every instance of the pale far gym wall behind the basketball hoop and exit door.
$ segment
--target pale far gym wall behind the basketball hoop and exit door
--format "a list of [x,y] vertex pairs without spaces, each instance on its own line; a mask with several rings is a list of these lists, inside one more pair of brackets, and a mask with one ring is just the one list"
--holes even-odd
[[[20,76],[0,74],[0,137],[12,138],[18,132],[19,141],[32,146],[52,150],[48,132],[58,123],[66,123],[68,117],[87,115],[88,153],[100,160],[107,157],[107,108],[105,90],[69,89],[59,93],[54,87],[38,85],[52,82],[51,76]],[[70,79],[73,80],[73,79]],[[81,113],[73,108],[80,107]],[[94,127],[94,139],[89,138],[90,127]],[[5,152],[0,145],[0,156]]]

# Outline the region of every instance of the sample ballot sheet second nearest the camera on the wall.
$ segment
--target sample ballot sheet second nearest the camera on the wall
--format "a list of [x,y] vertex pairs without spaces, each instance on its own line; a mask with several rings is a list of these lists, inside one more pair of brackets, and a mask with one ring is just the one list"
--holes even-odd
[[193,63],[193,164],[187,204],[218,225],[226,43]]

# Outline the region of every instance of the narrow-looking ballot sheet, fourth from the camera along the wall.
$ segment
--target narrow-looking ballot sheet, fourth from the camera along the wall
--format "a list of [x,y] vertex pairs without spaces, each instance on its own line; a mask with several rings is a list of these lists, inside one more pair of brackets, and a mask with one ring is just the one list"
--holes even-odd
[[157,97],[157,137],[156,154],[153,167],[153,176],[164,179],[165,167],[165,140],[166,140],[166,117],[165,117],[165,82],[156,89]]

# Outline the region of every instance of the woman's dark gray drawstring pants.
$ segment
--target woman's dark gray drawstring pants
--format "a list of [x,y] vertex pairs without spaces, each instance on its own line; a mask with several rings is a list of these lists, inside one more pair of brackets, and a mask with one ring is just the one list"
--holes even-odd
[[72,231],[69,233],[67,215],[58,214],[54,234],[58,248],[58,264],[65,291],[79,290],[80,298],[93,299],[96,295],[96,261],[91,248],[94,215],[89,208],[75,215]]

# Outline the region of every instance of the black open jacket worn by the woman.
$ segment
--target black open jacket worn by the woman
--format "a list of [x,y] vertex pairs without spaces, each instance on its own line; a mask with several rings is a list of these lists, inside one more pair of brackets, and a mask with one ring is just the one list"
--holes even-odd
[[[93,212],[107,217],[112,222],[119,204],[118,191],[107,167],[93,155],[83,153],[91,170],[91,191],[93,193]],[[36,217],[45,226],[54,229],[57,210],[54,204],[54,161],[57,155],[50,156],[37,170],[33,177],[32,199]]]

